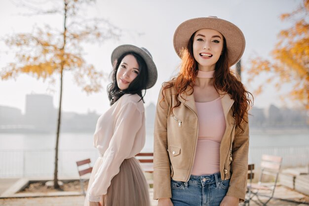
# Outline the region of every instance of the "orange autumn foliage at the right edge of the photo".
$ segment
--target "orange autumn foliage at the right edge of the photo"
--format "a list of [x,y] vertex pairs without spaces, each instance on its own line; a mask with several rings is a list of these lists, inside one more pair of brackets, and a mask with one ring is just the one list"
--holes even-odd
[[[294,25],[279,33],[279,41],[272,50],[273,61],[257,57],[251,60],[248,70],[249,82],[262,73],[268,74],[265,83],[279,78],[275,86],[280,88],[284,83],[292,83],[293,89],[287,97],[302,103],[309,109],[309,0],[303,0],[303,5],[291,13],[280,16],[281,20],[291,20]],[[262,87],[257,93],[262,92]]]

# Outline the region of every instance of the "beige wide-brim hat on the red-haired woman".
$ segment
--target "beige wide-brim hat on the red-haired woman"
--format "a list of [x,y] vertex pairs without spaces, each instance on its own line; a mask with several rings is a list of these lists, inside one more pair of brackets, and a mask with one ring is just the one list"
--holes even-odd
[[227,43],[230,66],[239,61],[245,50],[245,37],[237,26],[215,16],[189,19],[177,27],[174,34],[174,48],[178,56],[182,48],[188,47],[193,33],[201,29],[213,29],[220,32]]

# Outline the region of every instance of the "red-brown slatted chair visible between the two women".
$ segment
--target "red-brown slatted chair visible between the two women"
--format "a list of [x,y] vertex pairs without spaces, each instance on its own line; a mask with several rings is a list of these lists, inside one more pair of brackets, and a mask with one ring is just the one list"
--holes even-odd
[[[154,153],[139,153],[135,156],[145,173],[154,173]],[[149,186],[152,187],[154,184],[153,180],[148,178]]]

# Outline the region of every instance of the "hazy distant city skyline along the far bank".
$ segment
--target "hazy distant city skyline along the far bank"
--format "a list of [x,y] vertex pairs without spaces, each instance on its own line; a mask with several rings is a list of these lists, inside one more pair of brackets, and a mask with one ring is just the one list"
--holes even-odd
[[[150,103],[145,108],[146,132],[154,133],[156,106]],[[9,106],[0,106],[0,132],[55,132],[58,109],[53,106],[52,96],[28,94],[26,113]],[[94,132],[99,115],[88,111],[87,114],[62,112],[61,132]],[[249,110],[249,125],[255,128],[309,128],[309,113],[305,109],[252,107]]]

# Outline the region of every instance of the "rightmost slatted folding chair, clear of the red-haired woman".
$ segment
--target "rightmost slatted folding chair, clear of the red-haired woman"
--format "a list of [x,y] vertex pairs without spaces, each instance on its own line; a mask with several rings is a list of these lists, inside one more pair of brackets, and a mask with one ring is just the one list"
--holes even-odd
[[[249,202],[252,200],[260,206],[266,206],[270,202],[277,184],[281,163],[282,157],[262,156],[259,182],[250,184]],[[270,177],[272,182],[270,182]],[[253,197],[256,197],[256,199],[252,199]],[[261,197],[264,197],[264,199],[262,200]]]

